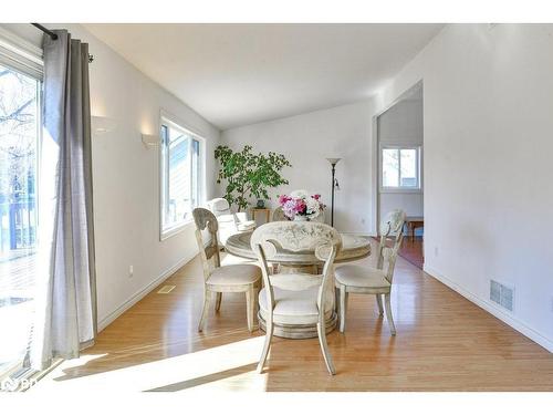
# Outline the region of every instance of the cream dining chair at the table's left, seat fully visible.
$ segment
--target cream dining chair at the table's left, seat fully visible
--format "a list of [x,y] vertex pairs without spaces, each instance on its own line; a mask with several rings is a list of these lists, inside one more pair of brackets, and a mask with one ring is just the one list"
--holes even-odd
[[[204,309],[198,331],[204,331],[209,305],[213,297],[215,310],[216,312],[220,310],[223,292],[246,293],[248,330],[253,331],[257,298],[261,284],[261,269],[252,263],[221,266],[219,243],[217,241],[217,230],[219,228],[217,218],[210,210],[204,208],[194,209],[192,216],[196,222],[196,240],[204,267]],[[210,238],[207,245],[204,242],[202,237],[202,231],[206,229]]]

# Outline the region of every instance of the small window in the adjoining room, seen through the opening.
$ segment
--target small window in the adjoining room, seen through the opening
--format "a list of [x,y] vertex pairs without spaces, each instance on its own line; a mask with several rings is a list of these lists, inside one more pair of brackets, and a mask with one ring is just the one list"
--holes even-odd
[[420,147],[383,147],[383,189],[420,189],[419,166]]

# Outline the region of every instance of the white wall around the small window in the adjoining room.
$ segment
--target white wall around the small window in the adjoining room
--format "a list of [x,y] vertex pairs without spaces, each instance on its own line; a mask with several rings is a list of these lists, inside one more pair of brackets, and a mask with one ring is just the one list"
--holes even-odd
[[[424,112],[420,93],[421,90],[419,90],[419,96],[403,100],[378,116],[378,142],[380,145],[417,145],[422,147]],[[420,167],[424,168],[424,157],[421,157]],[[424,180],[421,181],[424,183]],[[380,190],[379,204],[380,217],[393,209],[403,209],[408,216],[422,216],[422,188],[416,191]]]

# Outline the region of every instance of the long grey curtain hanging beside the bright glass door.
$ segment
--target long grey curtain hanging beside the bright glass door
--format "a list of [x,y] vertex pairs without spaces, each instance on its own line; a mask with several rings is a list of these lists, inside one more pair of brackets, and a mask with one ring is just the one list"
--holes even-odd
[[44,37],[39,271],[30,363],[71,359],[96,334],[88,45]]

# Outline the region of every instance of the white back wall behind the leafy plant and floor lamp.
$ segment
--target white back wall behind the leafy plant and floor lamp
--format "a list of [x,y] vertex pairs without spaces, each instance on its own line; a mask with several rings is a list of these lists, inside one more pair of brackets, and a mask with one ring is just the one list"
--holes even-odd
[[283,170],[290,185],[271,191],[272,206],[278,206],[276,195],[305,188],[322,195],[328,205],[327,221],[331,165],[326,157],[341,157],[336,166],[341,190],[335,194],[334,225],[341,231],[372,234],[372,113],[371,102],[359,102],[228,129],[221,141],[234,149],[252,144],[255,152],[284,154],[293,166]]

